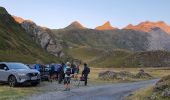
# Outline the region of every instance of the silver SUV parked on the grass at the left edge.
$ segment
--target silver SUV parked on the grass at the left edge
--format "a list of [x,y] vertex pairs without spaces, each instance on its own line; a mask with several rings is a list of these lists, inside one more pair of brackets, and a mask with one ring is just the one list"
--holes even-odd
[[10,87],[24,83],[36,86],[40,84],[40,72],[23,63],[0,62],[0,82],[6,82]]

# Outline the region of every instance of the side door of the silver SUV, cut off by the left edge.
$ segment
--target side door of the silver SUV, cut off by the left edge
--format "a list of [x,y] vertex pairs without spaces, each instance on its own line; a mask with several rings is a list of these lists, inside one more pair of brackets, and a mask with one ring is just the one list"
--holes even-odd
[[4,69],[5,67],[7,67],[5,64],[0,64],[0,81],[7,81],[8,79],[9,72]]

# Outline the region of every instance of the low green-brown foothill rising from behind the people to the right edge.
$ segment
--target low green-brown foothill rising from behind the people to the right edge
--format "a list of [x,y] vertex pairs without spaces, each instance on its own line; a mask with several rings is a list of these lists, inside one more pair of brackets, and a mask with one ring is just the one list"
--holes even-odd
[[170,52],[112,50],[89,62],[95,67],[169,67]]

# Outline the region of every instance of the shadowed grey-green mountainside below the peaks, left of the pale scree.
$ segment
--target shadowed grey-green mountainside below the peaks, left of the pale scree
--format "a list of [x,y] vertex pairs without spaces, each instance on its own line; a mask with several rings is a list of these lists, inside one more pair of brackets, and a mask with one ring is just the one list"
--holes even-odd
[[94,29],[53,30],[57,39],[69,47],[126,49],[145,51],[148,34],[133,30],[99,31]]

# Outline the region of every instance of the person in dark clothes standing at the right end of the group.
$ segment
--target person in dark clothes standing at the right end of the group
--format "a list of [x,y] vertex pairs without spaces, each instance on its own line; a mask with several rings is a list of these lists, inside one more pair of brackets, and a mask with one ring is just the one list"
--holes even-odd
[[84,63],[84,69],[82,71],[82,77],[84,78],[84,85],[87,86],[87,78],[88,74],[90,73],[90,68]]

